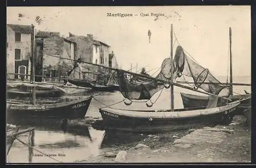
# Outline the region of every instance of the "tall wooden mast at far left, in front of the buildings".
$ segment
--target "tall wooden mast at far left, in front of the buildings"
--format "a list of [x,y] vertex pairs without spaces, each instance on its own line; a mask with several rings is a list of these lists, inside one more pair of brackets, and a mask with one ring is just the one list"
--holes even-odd
[[[31,24],[32,26],[32,32],[31,32],[31,57],[32,57],[32,61],[31,61],[31,66],[32,66],[32,73],[31,73],[31,77],[32,78],[32,82],[35,82],[35,57],[34,57],[34,25]],[[35,105],[35,87],[32,87],[32,101],[33,101],[33,105]]]

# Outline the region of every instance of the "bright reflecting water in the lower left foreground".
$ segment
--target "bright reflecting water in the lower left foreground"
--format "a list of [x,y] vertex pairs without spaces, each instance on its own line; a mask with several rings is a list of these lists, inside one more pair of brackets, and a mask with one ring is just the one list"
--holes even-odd
[[[31,126],[23,126],[28,128]],[[85,127],[86,128],[86,127]],[[63,133],[47,127],[35,127],[34,148],[61,162],[74,162],[99,155],[104,131],[94,130],[87,127],[86,134]],[[28,134],[19,136],[19,139],[28,143]],[[33,151],[32,161],[34,162],[57,162],[38,151]],[[28,147],[15,140],[10,153],[7,156],[8,163],[28,163]]]

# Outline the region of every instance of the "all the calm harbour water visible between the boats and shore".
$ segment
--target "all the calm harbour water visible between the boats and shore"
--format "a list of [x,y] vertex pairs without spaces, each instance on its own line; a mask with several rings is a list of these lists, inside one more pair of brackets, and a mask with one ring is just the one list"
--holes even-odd
[[[220,79],[220,78],[218,78]],[[225,81],[225,78],[221,81]],[[234,78],[233,82],[241,82],[241,83],[250,83],[250,78],[243,77],[243,78]],[[191,93],[191,94],[198,94],[197,92],[174,87],[174,102],[175,108],[182,108],[182,100],[180,97],[180,92]],[[234,86],[233,91],[237,93],[244,94],[244,90],[251,91],[251,88],[248,86]],[[201,94],[201,93],[199,93]],[[156,100],[159,93],[156,93],[152,98],[152,102]],[[120,92],[114,93],[101,93],[97,97],[95,97],[99,102],[102,102],[106,105],[111,105],[116,102],[123,100],[123,97]],[[124,108],[124,109],[168,109],[170,108],[170,92],[169,90],[163,90],[161,96],[159,97],[158,101],[153,105],[153,107],[148,108],[145,103],[133,103],[130,106],[126,106],[123,102],[116,104],[112,107]],[[92,100],[88,112],[86,114],[87,118],[101,118],[99,113],[99,107],[103,107],[101,103],[96,100]],[[29,127],[29,126],[26,126]],[[92,156],[97,156],[103,153],[106,150],[109,150],[113,147],[113,145],[120,145],[121,143],[128,143],[129,137],[131,140],[131,135],[127,135],[127,137],[122,136],[115,136],[112,139],[109,136],[109,139],[106,140],[105,131],[95,130],[92,127],[84,128],[88,129],[86,134],[75,135],[71,133],[63,133],[62,131],[58,130],[50,130],[46,127],[38,127],[35,131],[35,149],[44,152],[53,156],[53,158],[62,161],[62,162],[74,162],[76,160],[83,160],[87,159]],[[139,141],[141,136],[136,135],[134,141]],[[105,138],[104,138],[105,137]],[[122,139],[120,137],[123,137]],[[133,135],[135,137],[135,135]],[[19,137],[20,139],[28,142],[28,134],[24,134]],[[121,140],[117,142],[118,138]],[[105,139],[105,140],[103,140]],[[111,144],[112,142],[112,144]],[[39,153],[34,151],[33,162],[57,162],[49,157],[45,156],[36,156]],[[58,156],[59,155],[59,156]],[[20,143],[19,141],[15,140],[13,147],[11,148],[8,156],[8,162],[23,162],[28,163],[28,147]]]

